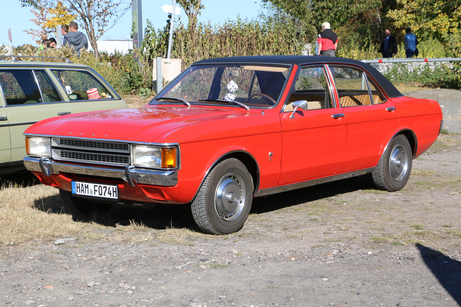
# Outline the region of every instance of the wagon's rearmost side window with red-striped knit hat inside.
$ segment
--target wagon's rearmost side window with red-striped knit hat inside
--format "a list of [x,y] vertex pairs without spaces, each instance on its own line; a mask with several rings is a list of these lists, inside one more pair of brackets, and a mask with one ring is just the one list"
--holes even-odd
[[100,81],[83,70],[52,70],[70,100],[115,99]]

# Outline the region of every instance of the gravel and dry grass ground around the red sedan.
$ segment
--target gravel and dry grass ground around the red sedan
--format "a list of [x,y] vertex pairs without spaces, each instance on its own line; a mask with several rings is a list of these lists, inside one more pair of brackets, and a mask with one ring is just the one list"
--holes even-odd
[[226,236],[161,206],[73,222],[58,190],[5,177],[0,293],[35,307],[461,306],[459,161],[461,135],[441,135],[402,191],[361,176],[258,197]]

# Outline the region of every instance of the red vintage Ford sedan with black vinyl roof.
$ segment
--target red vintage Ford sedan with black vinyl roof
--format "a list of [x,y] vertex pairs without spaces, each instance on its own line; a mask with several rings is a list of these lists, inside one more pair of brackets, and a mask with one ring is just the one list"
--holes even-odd
[[398,191],[441,127],[436,101],[403,97],[359,61],[216,58],[142,108],[36,123],[24,165],[76,219],[112,204],[183,205],[202,231],[227,234],[253,197],[367,173]]

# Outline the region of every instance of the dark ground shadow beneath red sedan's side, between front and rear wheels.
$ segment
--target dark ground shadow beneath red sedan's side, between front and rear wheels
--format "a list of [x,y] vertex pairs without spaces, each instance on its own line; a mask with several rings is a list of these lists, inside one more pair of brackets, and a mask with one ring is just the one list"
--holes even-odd
[[265,213],[283,209],[300,203],[312,202],[337,194],[349,193],[357,190],[376,189],[371,174],[357,176],[313,185],[293,191],[268,195],[267,197],[256,197],[253,199],[251,213]]

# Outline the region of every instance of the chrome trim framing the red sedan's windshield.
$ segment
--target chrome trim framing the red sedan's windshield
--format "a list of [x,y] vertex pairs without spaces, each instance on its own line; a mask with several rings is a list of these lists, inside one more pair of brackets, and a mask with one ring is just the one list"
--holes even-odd
[[[282,87],[282,91],[280,92],[280,95],[278,95],[278,98],[277,98],[277,103],[274,104],[272,107],[270,108],[258,108],[258,107],[250,107],[250,110],[251,109],[254,109],[254,110],[271,110],[271,109],[274,109],[276,108],[279,104],[280,104],[280,101],[281,101],[281,98],[283,96],[283,93],[284,91],[286,90],[286,87],[287,87],[287,83],[288,83],[288,79],[290,78],[290,75],[293,71],[293,66],[295,64],[279,64],[279,63],[252,63],[252,62],[247,62],[247,63],[237,63],[237,62],[230,62],[230,63],[207,63],[207,64],[191,64],[189,65],[185,70],[183,70],[179,75],[177,75],[173,80],[171,80],[168,84],[176,81],[177,78],[179,78],[181,75],[183,75],[184,71],[187,71],[189,70],[191,67],[194,67],[194,66],[202,66],[202,65],[255,65],[255,66],[283,66],[283,67],[287,67],[288,68],[288,77],[287,79],[285,80],[285,84],[284,86]],[[166,87],[166,86],[165,86]],[[164,88],[165,88],[164,87]],[[155,97],[159,96],[159,97],[163,97],[159,94],[162,93],[163,89],[157,93],[154,98],[152,98],[149,102],[148,102],[148,105],[149,106],[154,106],[154,105],[173,105],[171,103],[167,103],[167,104],[150,104],[151,101],[154,101],[155,100]],[[162,94],[163,95],[163,94]],[[241,106],[239,105],[232,105],[232,104],[229,104],[229,105],[226,105],[226,104],[191,104],[191,105],[207,105],[207,106],[218,106],[218,107],[231,107],[231,108],[242,108]]]

